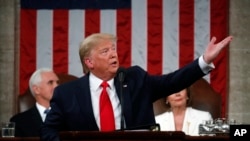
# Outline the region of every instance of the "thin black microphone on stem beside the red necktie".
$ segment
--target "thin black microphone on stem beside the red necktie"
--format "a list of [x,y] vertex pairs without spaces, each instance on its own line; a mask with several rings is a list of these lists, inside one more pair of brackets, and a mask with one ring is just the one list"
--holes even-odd
[[124,130],[124,113],[123,113],[123,107],[124,107],[124,101],[123,101],[123,82],[126,76],[126,70],[125,68],[120,67],[117,71],[119,82],[120,82],[120,100],[121,100],[121,130]]

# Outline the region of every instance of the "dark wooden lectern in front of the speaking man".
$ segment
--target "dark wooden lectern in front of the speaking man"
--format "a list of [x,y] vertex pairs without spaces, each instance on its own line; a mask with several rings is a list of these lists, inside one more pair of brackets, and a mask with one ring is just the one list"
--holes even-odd
[[183,141],[184,132],[160,132],[160,131],[72,131],[61,132],[61,141]]

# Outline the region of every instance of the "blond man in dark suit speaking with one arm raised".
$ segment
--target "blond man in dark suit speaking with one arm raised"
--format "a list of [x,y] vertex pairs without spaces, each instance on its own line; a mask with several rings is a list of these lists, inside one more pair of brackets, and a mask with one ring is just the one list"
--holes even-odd
[[[51,111],[41,128],[42,140],[59,140],[59,131],[103,131],[99,98],[103,81],[108,83],[115,127],[108,131],[155,124],[153,102],[178,92],[213,69],[212,61],[232,37],[215,44],[212,38],[204,55],[168,75],[150,75],[139,66],[119,69],[116,37],[92,34],[80,45],[85,76],[58,86]],[[106,119],[111,121],[112,118]]]

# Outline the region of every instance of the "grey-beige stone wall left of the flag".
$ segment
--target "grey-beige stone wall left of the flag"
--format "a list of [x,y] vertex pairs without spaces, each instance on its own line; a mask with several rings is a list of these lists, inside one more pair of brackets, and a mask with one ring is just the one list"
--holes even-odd
[[15,0],[0,0],[0,122],[16,109],[17,10]]

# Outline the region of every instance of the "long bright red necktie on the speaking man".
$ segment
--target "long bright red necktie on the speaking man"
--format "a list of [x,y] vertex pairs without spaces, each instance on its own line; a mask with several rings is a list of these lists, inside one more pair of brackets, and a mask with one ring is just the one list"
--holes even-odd
[[110,102],[106,88],[108,83],[106,81],[102,82],[103,87],[100,96],[100,125],[101,131],[114,131],[115,130],[115,119],[112,104]]

